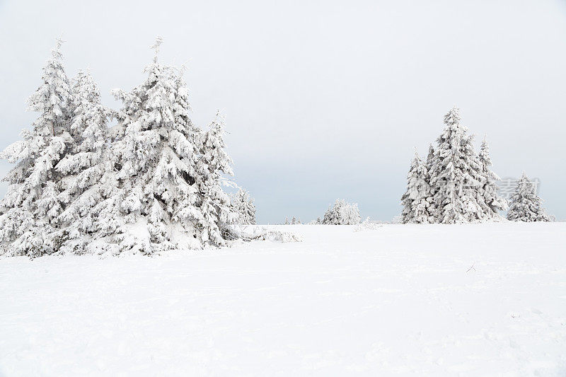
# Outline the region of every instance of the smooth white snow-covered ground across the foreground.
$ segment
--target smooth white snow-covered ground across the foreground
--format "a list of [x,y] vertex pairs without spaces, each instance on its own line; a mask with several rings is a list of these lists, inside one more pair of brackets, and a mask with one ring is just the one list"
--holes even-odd
[[0,376],[566,376],[566,224],[0,259]]

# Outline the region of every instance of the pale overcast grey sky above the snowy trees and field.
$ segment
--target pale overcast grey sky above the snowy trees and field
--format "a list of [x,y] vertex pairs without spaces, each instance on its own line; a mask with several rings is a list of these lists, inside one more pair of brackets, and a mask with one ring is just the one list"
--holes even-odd
[[310,221],[337,197],[391,219],[413,147],[426,155],[453,105],[495,172],[539,178],[566,219],[566,1],[0,0],[1,149],[37,116],[25,98],[60,35],[67,74],[89,66],[114,108],[163,35],[193,120],[226,115],[260,223]]

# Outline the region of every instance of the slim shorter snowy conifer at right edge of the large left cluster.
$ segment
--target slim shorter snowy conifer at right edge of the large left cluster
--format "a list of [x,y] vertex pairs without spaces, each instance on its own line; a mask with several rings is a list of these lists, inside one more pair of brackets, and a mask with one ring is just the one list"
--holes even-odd
[[202,134],[200,159],[197,161],[197,187],[204,201],[200,206],[204,221],[200,223],[201,240],[210,245],[224,245],[231,238],[229,224],[238,218],[230,197],[222,190],[222,175],[233,175],[232,158],[226,153],[224,143],[224,117],[216,113],[216,119],[207,132]]

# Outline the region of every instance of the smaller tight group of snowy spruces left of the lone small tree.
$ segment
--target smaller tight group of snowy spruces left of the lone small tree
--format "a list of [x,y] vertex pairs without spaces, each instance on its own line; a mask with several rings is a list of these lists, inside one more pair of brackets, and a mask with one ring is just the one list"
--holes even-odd
[[444,116],[444,131],[437,147],[429,147],[426,161],[415,153],[407,175],[407,191],[401,197],[401,221],[417,224],[458,224],[501,219],[507,202],[497,195],[487,142],[480,153],[473,135],[461,124],[460,111]]

